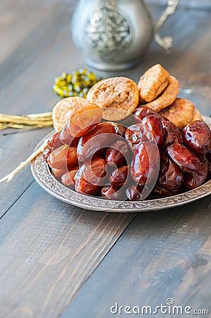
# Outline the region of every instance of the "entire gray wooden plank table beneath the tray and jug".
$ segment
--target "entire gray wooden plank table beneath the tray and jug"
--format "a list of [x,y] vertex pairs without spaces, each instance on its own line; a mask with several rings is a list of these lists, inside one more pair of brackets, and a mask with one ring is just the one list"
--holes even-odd
[[[0,2],[0,112],[52,110],[59,100],[52,91],[54,77],[85,66],[71,40],[76,3]],[[210,6],[186,5],[181,3],[162,29],[162,35],[174,36],[171,54],[152,43],[137,68],[100,75],[138,81],[159,62],[179,79],[180,95],[210,115]],[[163,9],[155,3],[150,8],[154,18]],[[0,177],[51,130],[1,131]],[[211,310],[210,196],[153,213],[86,211],[44,192],[29,166],[0,189],[0,317],[106,318],[114,316],[110,308],[116,302],[155,308],[167,298],[174,305]]]

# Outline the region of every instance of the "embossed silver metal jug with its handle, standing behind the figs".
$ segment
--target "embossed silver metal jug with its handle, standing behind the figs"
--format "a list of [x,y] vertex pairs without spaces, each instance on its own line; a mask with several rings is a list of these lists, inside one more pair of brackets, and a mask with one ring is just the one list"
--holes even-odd
[[128,69],[140,62],[153,35],[159,45],[171,47],[171,37],[161,39],[157,30],[178,2],[168,1],[154,28],[144,0],[80,0],[73,14],[73,41],[95,69]]

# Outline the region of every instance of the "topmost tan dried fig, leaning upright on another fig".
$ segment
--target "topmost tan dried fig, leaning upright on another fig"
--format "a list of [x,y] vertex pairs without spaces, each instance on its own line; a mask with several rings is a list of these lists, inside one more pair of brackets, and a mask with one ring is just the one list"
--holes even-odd
[[152,102],[169,83],[169,72],[162,65],[155,64],[147,69],[138,82],[140,100]]

